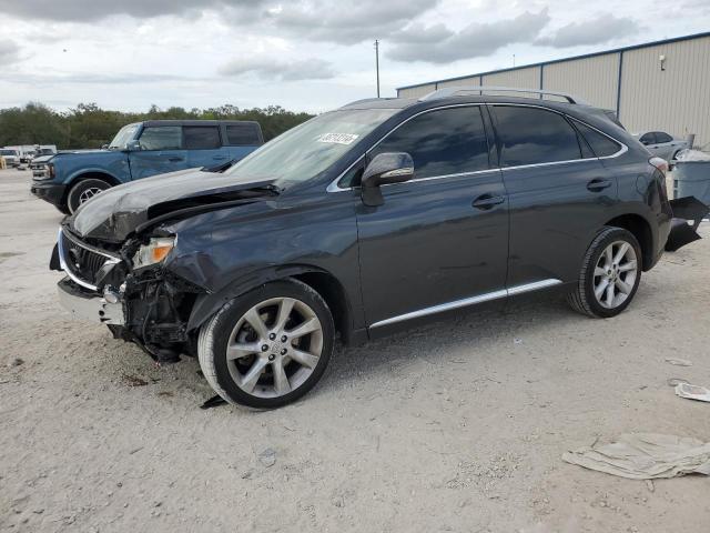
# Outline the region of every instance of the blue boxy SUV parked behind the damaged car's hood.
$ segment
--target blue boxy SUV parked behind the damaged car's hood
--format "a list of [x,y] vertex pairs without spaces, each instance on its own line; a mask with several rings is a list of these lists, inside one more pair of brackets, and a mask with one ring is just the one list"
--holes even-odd
[[129,181],[239,161],[263,144],[257,122],[149,120],[124,125],[101,150],[59,152],[32,161],[31,191],[63,213]]

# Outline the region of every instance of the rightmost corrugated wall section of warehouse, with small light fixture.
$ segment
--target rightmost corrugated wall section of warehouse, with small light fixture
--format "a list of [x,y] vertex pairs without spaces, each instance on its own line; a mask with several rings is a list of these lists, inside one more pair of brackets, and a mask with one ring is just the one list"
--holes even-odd
[[710,37],[623,52],[619,114],[629,131],[696,133],[696,145],[710,143]]

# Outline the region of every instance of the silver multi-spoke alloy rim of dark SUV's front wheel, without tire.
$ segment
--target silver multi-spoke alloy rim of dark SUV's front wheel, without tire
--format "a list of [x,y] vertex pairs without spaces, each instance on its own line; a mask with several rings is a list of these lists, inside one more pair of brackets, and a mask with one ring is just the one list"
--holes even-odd
[[240,318],[229,338],[226,360],[241,390],[278,398],[308,379],[322,351],[323,326],[315,311],[294,298],[273,298]]

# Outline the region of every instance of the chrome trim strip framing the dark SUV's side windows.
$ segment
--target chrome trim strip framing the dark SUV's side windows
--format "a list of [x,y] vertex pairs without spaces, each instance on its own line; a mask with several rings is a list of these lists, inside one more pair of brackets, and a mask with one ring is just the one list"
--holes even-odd
[[577,122],[579,122],[581,124],[585,124],[587,128],[591,128],[592,130],[597,131],[598,133],[601,133],[606,138],[611,139],[617,144],[620,144],[621,148],[619,149],[618,152],[615,152],[611,155],[604,155],[601,158],[570,159],[570,160],[567,160],[567,161],[550,161],[550,162],[546,162],[546,163],[519,164],[519,165],[516,165],[516,167],[491,167],[490,169],[477,170],[477,171],[474,171],[474,172],[463,172],[460,174],[432,175],[432,177],[428,177],[428,178],[419,178],[419,179],[405,181],[404,183],[412,183],[412,182],[426,181],[426,180],[435,180],[435,179],[439,179],[439,178],[450,178],[450,177],[454,177],[454,175],[477,174],[477,173],[480,173],[480,172],[490,172],[490,171],[494,171],[494,170],[532,169],[532,168],[536,168],[536,167],[549,167],[549,165],[552,165],[552,164],[575,163],[575,162],[579,162],[579,161],[594,161],[594,160],[602,160],[602,159],[613,159],[613,158],[618,158],[619,155],[622,155],[622,154],[625,154],[626,152],[629,151],[629,147],[627,147],[623,142],[619,141],[618,139],[615,139],[613,137],[609,135],[608,133],[605,133],[604,131],[599,130],[598,128],[595,128],[594,125],[588,124],[587,122],[585,122],[584,120],[578,119],[577,117],[567,115],[561,111],[558,111],[558,110],[551,109],[551,108],[547,108],[545,105],[536,105],[536,104],[531,104],[531,103],[516,103],[516,102],[456,103],[456,104],[440,105],[440,107],[437,107],[437,108],[425,109],[424,111],[419,111],[418,113],[413,114],[412,117],[407,118],[406,120],[399,122],[396,127],[394,127],[392,130],[389,130],[387,133],[385,133],[382,138],[379,138],[379,140],[375,144],[369,147],[365,151],[365,153],[363,153],[359,158],[357,158],[347,169],[345,169],[343,172],[341,172],[341,174],[337,178],[335,178],[328,184],[328,187],[325,189],[326,192],[343,192],[343,191],[352,191],[352,190],[356,189],[354,187],[341,188],[341,187],[338,187],[337,182],[341,181],[343,179],[343,177],[353,169],[353,167],[355,167],[357,163],[359,163],[365,158],[365,155],[367,155],[367,153],[369,153],[382,141],[384,141],[387,135],[389,135],[393,131],[397,130],[403,124],[406,124],[412,119],[414,119],[416,117],[419,117],[420,114],[424,114],[424,113],[428,113],[428,112],[432,112],[432,111],[438,111],[440,109],[470,108],[470,107],[480,107],[480,105],[513,105],[513,107],[518,107],[518,108],[544,109],[544,110],[550,111],[552,113],[561,114],[565,118],[569,117],[569,119],[576,120]]

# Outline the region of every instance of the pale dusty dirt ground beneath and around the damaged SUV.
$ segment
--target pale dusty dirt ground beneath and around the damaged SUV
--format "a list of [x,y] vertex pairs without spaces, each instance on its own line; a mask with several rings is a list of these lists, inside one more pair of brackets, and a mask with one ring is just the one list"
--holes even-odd
[[294,405],[202,411],[196,361],[155,368],[59,308],[61,215],[29,181],[0,171],[1,531],[708,530],[707,477],[560,457],[623,432],[710,441],[710,404],[667,384],[710,385],[710,240],[667,254],[613,320],[558,298],[463,313],[338,349]]

